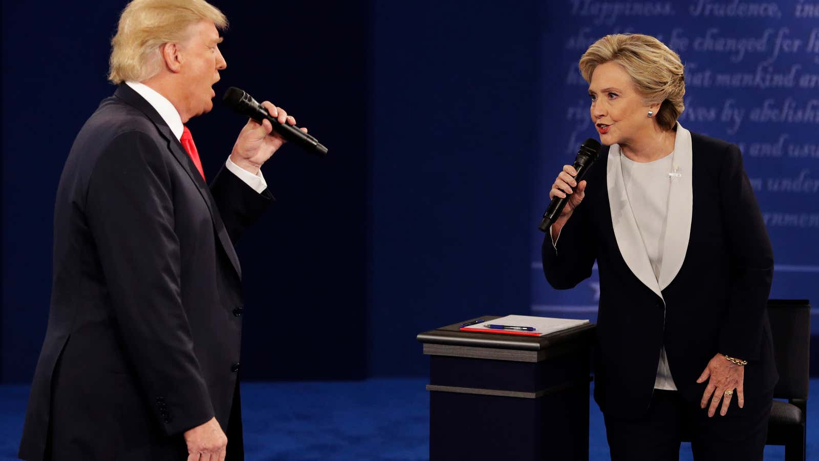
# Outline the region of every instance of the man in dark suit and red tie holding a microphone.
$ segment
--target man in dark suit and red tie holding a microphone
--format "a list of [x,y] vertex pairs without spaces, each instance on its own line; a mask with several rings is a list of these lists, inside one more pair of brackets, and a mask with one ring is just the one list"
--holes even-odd
[[243,458],[233,244],[273,199],[259,167],[283,139],[248,121],[206,184],[183,123],[212,108],[225,25],[204,0],[134,0],[122,13],[119,88],[80,130],[57,190],[21,459]]

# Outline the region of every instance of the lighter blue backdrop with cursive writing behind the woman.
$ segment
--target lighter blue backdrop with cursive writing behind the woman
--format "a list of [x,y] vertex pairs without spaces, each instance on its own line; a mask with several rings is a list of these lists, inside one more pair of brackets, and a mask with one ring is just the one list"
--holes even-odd
[[[687,129],[738,144],[771,237],[771,298],[819,301],[819,4],[809,2],[548,2],[542,30],[541,164],[533,215],[551,181],[573,162],[590,121],[588,84],[577,70],[605,34],[654,35],[686,65]],[[597,272],[573,290],[542,273],[543,234],[532,230],[532,313],[596,318]],[[814,313],[817,309],[814,308]],[[812,332],[819,334],[819,318]]]

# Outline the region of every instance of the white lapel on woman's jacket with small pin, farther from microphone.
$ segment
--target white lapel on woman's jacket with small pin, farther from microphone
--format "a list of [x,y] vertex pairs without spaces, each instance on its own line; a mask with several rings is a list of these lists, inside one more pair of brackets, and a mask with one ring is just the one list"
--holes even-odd
[[[666,235],[663,240],[663,265],[660,267],[660,290],[674,280],[686,259],[688,240],[691,234],[691,213],[694,208],[692,171],[694,155],[691,151],[691,133],[676,124],[674,141],[674,164],[671,186],[668,190],[668,211],[666,214]],[[679,176],[676,176],[679,175]]]

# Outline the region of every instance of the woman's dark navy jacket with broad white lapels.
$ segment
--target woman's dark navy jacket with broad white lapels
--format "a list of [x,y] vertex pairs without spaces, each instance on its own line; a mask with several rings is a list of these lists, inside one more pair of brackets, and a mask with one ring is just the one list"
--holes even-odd
[[[648,409],[663,346],[676,387],[691,402],[701,399],[706,385],[696,380],[717,353],[749,361],[746,399],[766,395],[778,380],[766,310],[773,253],[742,155],[704,135],[690,134],[681,146],[687,133],[677,132],[675,152],[687,148],[689,157],[672,179],[679,182],[670,193],[659,284],[646,272],[645,249],[635,248],[639,234],[627,203],[611,197],[618,195],[618,166],[609,163],[619,160],[609,147],[589,171],[585,199],[556,250],[549,235],[542,247],[546,279],[557,289],[586,279],[597,261],[595,399],[619,418],[640,418]],[[629,219],[613,218],[621,212]],[[729,414],[741,416],[735,402]]]

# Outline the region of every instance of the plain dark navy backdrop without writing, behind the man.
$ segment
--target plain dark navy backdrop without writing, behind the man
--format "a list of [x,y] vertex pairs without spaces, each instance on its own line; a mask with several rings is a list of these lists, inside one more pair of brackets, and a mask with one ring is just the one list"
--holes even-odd
[[[426,374],[414,335],[527,313],[537,2],[225,2],[228,68],[189,122],[213,177],[269,99],[330,149],[263,168],[278,201],[243,237],[243,377]],[[29,382],[46,328],[63,162],[102,98],[125,2],[2,2],[0,380]],[[215,331],[214,334],[218,334]]]

